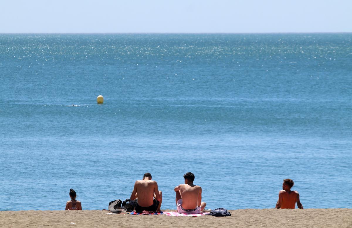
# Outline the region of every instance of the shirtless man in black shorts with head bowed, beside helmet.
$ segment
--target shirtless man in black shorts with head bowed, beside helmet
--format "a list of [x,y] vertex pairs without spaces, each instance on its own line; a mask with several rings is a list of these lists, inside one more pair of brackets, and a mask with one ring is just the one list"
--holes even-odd
[[137,213],[142,211],[160,211],[162,192],[158,190],[158,183],[152,180],[150,173],[145,173],[142,180],[134,183],[131,200],[134,200],[134,210]]

